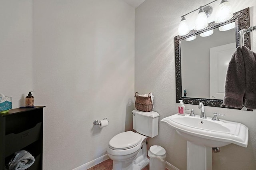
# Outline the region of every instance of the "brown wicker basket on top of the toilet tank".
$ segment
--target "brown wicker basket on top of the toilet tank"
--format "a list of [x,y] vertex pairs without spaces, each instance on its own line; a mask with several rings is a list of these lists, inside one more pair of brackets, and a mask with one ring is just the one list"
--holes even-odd
[[[138,93],[138,92],[136,92]],[[150,93],[148,94],[148,97],[143,97],[136,95],[135,93],[135,107],[138,111],[143,111],[143,112],[150,112],[153,109],[153,102],[151,101]]]

